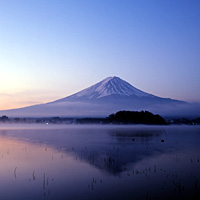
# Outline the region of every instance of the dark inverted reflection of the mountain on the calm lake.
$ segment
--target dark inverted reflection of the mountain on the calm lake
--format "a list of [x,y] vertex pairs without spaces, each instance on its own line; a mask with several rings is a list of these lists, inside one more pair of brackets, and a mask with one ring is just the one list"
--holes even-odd
[[112,175],[126,170],[129,164],[159,153],[161,138],[166,137],[162,129],[123,127],[120,130],[115,126],[100,127],[100,130],[81,126],[61,130],[4,130],[0,133],[32,143],[48,144]]

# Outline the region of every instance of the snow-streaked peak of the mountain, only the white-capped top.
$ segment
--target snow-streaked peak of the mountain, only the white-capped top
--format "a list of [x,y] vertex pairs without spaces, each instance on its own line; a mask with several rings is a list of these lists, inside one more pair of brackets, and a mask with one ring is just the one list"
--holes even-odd
[[119,77],[108,77],[97,84],[86,88],[70,97],[84,97],[87,99],[99,99],[110,95],[121,95],[121,96],[138,96],[146,97],[153,96],[148,93],[142,92],[141,90],[133,87],[128,82],[120,79]]

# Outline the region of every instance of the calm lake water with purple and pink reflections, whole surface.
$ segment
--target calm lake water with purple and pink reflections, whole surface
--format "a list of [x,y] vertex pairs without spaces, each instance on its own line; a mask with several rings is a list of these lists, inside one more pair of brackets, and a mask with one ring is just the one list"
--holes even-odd
[[0,199],[200,199],[200,126],[0,124]]

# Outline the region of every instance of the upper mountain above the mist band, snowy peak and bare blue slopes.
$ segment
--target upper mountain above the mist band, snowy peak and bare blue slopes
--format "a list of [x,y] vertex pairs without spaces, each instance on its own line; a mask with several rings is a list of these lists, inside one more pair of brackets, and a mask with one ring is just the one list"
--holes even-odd
[[169,98],[161,98],[143,92],[119,77],[108,77],[91,87],[63,99],[50,102],[50,104],[66,102],[84,102],[97,104],[120,105],[119,108],[134,107],[135,109],[146,108],[153,105],[172,105],[184,102]]

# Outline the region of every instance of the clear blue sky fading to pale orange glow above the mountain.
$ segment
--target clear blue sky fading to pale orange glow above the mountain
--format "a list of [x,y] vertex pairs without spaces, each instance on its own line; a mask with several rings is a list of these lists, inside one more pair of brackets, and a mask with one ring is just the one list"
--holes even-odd
[[200,102],[199,0],[0,0],[0,110],[118,76]]

